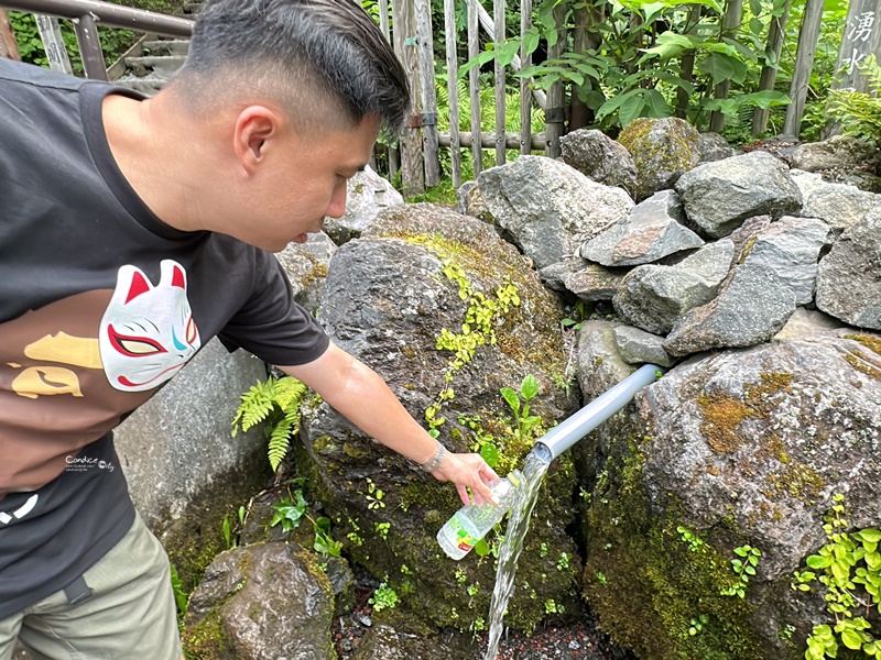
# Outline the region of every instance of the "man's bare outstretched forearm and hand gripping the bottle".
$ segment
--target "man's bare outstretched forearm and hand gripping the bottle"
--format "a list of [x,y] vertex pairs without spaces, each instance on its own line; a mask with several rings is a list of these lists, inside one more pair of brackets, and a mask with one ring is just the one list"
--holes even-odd
[[[317,360],[279,369],[312,387],[335,410],[389,449],[420,464],[435,455],[437,441],[411,417],[385,382],[333,342]],[[493,499],[487,483],[497,475],[479,454],[446,453],[432,475],[455,483],[465,504],[470,502],[466,487],[471,488],[478,502]]]

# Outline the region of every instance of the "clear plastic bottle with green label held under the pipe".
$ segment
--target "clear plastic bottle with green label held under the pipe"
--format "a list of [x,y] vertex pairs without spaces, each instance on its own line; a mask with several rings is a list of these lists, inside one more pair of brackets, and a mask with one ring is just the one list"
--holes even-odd
[[523,482],[519,470],[489,484],[499,504],[469,504],[456,512],[437,532],[437,542],[452,559],[461,559],[499,522],[514,504],[516,488]]

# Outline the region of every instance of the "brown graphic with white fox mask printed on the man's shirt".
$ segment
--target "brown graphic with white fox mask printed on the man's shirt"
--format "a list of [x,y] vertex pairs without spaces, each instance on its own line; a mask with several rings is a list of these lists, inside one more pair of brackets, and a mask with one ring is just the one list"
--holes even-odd
[[124,265],[112,290],[84,292],[0,322],[0,498],[57,476],[65,457],[116,427],[200,345],[187,273],[171,260],[160,263],[156,284]]

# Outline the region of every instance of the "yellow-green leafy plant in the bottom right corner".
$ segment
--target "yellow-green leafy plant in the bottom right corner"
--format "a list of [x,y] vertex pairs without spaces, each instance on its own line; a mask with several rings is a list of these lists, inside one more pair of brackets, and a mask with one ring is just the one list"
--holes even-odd
[[[796,572],[792,586],[811,591],[816,580],[826,586],[826,608],[835,617],[833,625],[814,626],[807,638],[807,660],[836,658],[839,641],[847,649],[881,657],[881,639],[871,631],[867,616],[881,604],[881,530],[861,529],[849,534],[845,518],[845,496],[833,496],[831,512],[823,526],[828,542],[817,554],[807,558],[806,571]],[[864,616],[855,616],[862,612]]]

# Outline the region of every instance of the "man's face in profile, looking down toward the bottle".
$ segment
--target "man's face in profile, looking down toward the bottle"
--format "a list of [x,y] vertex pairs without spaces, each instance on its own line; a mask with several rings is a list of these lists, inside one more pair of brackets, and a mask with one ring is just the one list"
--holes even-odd
[[370,161],[379,128],[380,119],[368,117],[313,139],[291,131],[274,136],[248,186],[244,212],[219,230],[270,252],[305,242],[326,216],[346,212],[346,182]]

